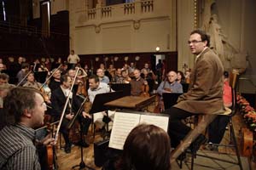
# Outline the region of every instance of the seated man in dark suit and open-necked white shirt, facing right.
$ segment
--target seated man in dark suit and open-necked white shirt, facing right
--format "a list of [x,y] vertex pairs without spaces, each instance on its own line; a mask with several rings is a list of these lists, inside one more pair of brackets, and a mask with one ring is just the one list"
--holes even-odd
[[[81,105],[81,102],[79,101],[79,98],[76,96],[76,94],[73,94],[72,92],[70,92],[71,84],[72,84],[71,77],[67,75],[61,76],[61,86],[59,88],[56,88],[51,95],[51,103],[53,106],[52,116],[54,116],[56,121],[56,120],[59,120],[61,117],[61,113],[64,109],[64,105],[67,101],[67,96],[69,94],[68,105],[65,110],[65,115],[61,122],[61,129],[60,129],[60,132],[63,134],[63,138],[65,140],[66,153],[71,152],[71,142],[68,138],[69,129],[67,128],[67,126],[69,122],[73,119],[73,116],[74,116],[73,114],[79,110],[79,107]],[[87,133],[88,128],[90,126],[90,118],[91,116],[85,113],[84,111],[82,111],[81,115],[79,116],[79,121],[82,122],[83,124],[82,129],[84,134]],[[85,141],[81,141],[81,144],[83,144],[85,147],[89,146],[89,144],[86,144]]]

